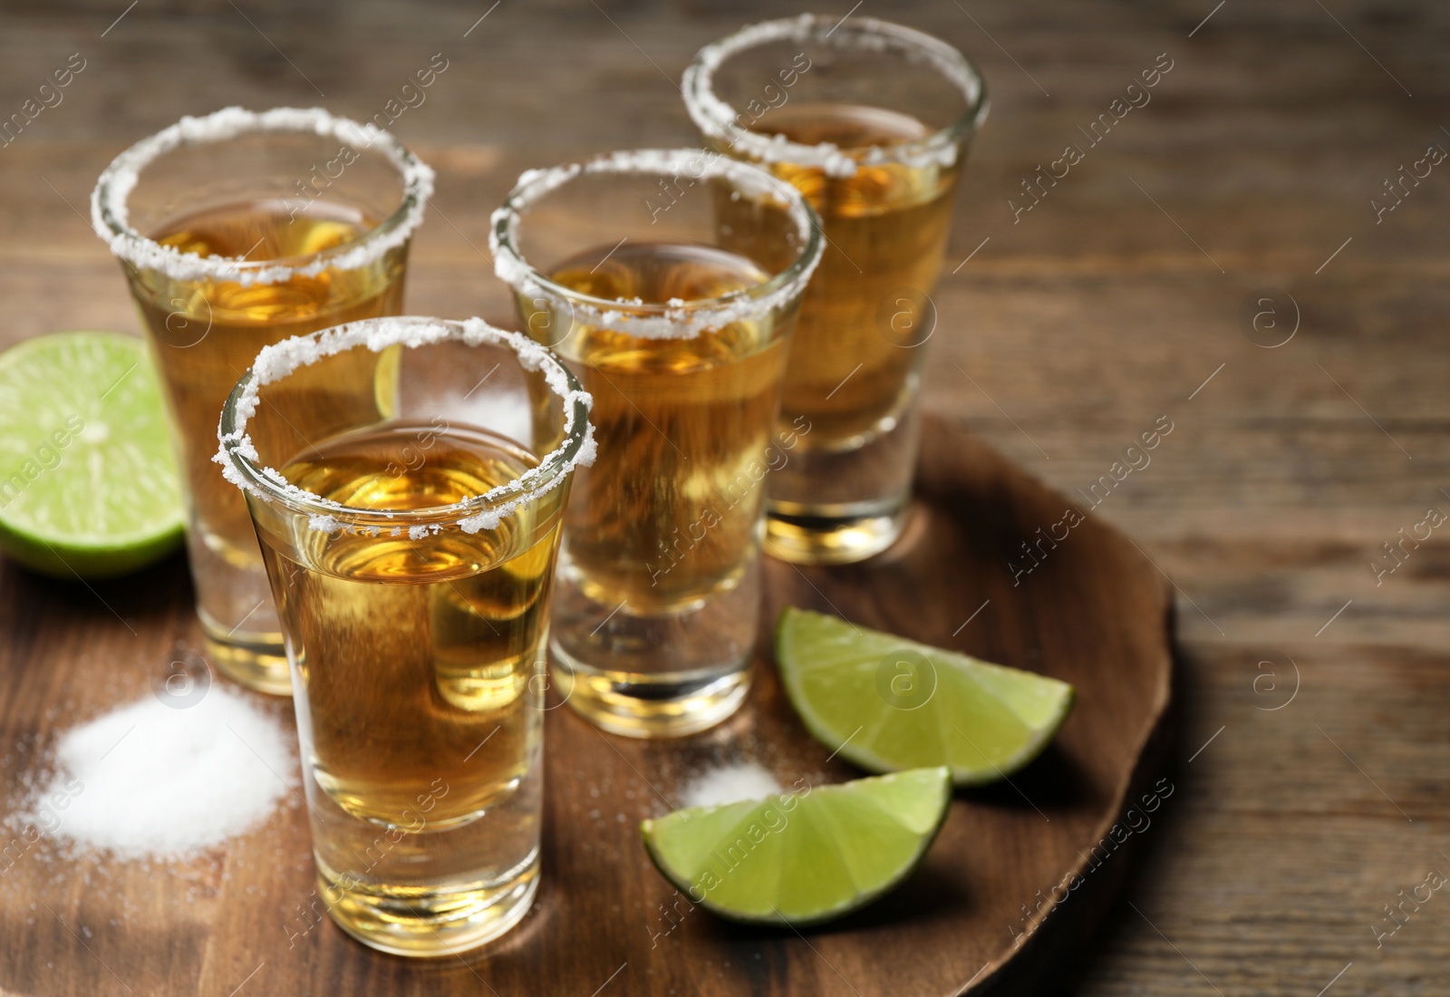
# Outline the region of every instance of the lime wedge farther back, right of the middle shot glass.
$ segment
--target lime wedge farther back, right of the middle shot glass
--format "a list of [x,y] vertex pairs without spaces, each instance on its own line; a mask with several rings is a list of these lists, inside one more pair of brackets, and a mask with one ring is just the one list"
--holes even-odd
[[786,694],[816,741],[871,772],[948,765],[957,785],[1006,778],[1073,709],[1067,683],[787,607]]

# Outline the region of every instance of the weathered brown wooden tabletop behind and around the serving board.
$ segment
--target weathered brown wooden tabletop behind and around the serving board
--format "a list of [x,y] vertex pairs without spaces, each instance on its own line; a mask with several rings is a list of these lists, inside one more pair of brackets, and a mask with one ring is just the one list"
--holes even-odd
[[[689,57],[782,13],[758,0],[602,6],[115,0],[0,13],[0,113],[72,52],[86,59],[62,103],[0,148],[0,342],[135,329],[87,210],[122,148],[228,103],[371,117],[435,52],[448,70],[394,125],[439,170],[409,306],[506,314],[486,217],[519,170],[693,143],[673,85]],[[1450,13],[1359,0],[860,13],[956,42],[993,93],[935,296],[929,404],[1063,491],[1108,474],[1160,416],[1174,426],[1093,514],[1177,588],[1180,793],[1146,835],[1116,916],[1064,961],[1063,988],[1441,993],[1450,900],[1399,914],[1392,936],[1375,929],[1392,927],[1385,906],[1402,890],[1450,874],[1450,543],[1436,530],[1406,542],[1393,572],[1373,565],[1396,564],[1383,545],[1428,509],[1450,512],[1450,254],[1434,228],[1450,165],[1396,180],[1396,197],[1383,187],[1424,174],[1428,145],[1450,149]],[[1151,101],[1089,145],[1080,129],[1160,54],[1172,70]],[[1067,143],[1082,159],[1014,219],[1021,181]],[[1256,343],[1246,307],[1247,319],[1298,313],[1298,330]],[[117,606],[133,638],[84,588],[3,568],[6,726],[41,723],[16,716],[14,693],[44,685],[49,662],[113,654],[117,669],[145,669],[187,636],[184,597],[158,577],[160,591]],[[19,610],[38,597],[71,607],[74,626],[38,632]],[[0,939],[0,990],[19,958]],[[77,945],[68,958],[90,956]],[[91,978],[54,968],[44,993]],[[209,971],[241,983],[248,969]]]

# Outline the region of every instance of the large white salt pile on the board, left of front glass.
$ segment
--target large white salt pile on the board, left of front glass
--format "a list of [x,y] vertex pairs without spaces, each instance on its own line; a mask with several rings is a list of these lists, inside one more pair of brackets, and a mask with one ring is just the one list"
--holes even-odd
[[14,819],[120,858],[183,856],[261,826],[296,767],[283,725],[235,693],[187,709],[148,696],[65,733]]

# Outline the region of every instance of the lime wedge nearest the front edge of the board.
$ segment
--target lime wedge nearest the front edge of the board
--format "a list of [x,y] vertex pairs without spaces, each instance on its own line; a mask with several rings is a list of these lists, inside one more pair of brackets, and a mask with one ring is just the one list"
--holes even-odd
[[924,768],[676,810],[639,830],[692,903],[731,920],[813,925],[911,875],[950,804],[951,774]]

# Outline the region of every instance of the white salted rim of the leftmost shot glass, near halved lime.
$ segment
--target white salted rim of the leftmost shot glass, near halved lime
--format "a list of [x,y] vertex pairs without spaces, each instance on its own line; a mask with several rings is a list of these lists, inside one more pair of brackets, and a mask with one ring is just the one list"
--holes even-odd
[[[173,246],[162,246],[148,239],[130,226],[126,201],[141,178],[141,171],[155,159],[183,145],[226,142],[252,132],[310,132],[362,149],[378,145],[383,155],[402,174],[403,203],[358,241],[310,256],[297,256],[296,262],[178,252]],[[138,268],[160,271],[173,280],[219,278],[235,281],[242,287],[281,284],[294,275],[316,277],[328,268],[357,270],[377,261],[389,249],[407,242],[413,229],[422,225],[423,206],[432,193],[432,168],[403,148],[392,133],[371,122],[360,123],[349,117],[336,117],[322,107],[273,107],[265,112],[223,107],[204,117],[183,117],[112,159],[96,181],[96,190],[91,191],[91,226],[120,259]]]

